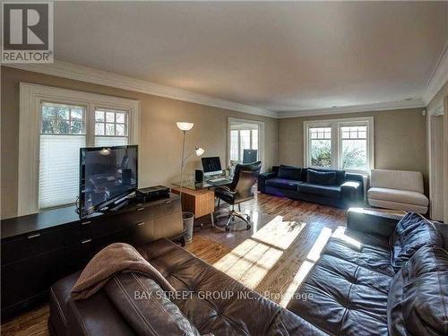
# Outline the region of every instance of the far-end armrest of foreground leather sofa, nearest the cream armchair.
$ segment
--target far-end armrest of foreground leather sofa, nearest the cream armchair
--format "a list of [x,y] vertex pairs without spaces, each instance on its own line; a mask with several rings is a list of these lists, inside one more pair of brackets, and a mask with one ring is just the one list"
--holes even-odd
[[350,208],[347,211],[347,228],[382,237],[390,237],[403,216],[369,209]]

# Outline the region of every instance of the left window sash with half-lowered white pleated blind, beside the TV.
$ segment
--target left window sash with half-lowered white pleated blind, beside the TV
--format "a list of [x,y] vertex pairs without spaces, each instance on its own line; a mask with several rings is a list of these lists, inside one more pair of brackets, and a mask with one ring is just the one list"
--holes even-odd
[[75,202],[80,148],[85,147],[85,108],[42,103],[39,209]]

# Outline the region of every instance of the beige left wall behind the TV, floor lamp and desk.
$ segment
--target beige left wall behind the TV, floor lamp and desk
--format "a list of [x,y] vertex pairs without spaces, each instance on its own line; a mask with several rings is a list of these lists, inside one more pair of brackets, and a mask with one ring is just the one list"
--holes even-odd
[[[1,68],[1,217],[13,217],[17,211],[17,176],[19,145],[19,83],[30,82],[66,89],[83,90],[141,101],[140,186],[168,184],[179,178],[181,133],[177,121],[192,121],[194,128],[188,133],[186,148],[194,150],[198,144],[207,156],[226,159],[228,116],[263,121],[265,123],[264,163],[271,168],[277,163],[278,121],[269,117],[254,116],[222,108],[166,99],[129,90],[77,82],[64,78]],[[197,158],[189,160],[186,171],[194,173],[200,165]]]

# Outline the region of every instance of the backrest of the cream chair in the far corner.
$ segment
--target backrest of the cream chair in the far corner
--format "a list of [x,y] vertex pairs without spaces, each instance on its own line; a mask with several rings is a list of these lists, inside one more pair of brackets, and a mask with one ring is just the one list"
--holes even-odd
[[423,176],[419,171],[372,169],[370,186],[424,192]]

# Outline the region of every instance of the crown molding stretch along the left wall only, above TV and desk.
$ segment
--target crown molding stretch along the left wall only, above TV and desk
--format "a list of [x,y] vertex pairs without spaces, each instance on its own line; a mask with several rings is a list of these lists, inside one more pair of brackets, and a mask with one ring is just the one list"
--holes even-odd
[[249,105],[240,104],[234,101],[217,99],[211,96],[177,89],[171,86],[160,85],[154,82],[134,79],[116,73],[108,73],[102,70],[93,69],[83,65],[75,65],[64,61],[57,61],[53,64],[8,64],[2,65],[16,69],[27,70],[34,73],[45,73],[56,77],[68,78],[75,81],[90,82],[94,84],[114,87],[123,90],[132,90],[165,97],[188,101],[191,103],[211,106],[214,108],[226,108],[233,111],[244,112],[257,116],[269,116],[277,118],[279,115],[275,111],[265,108],[255,108]]

